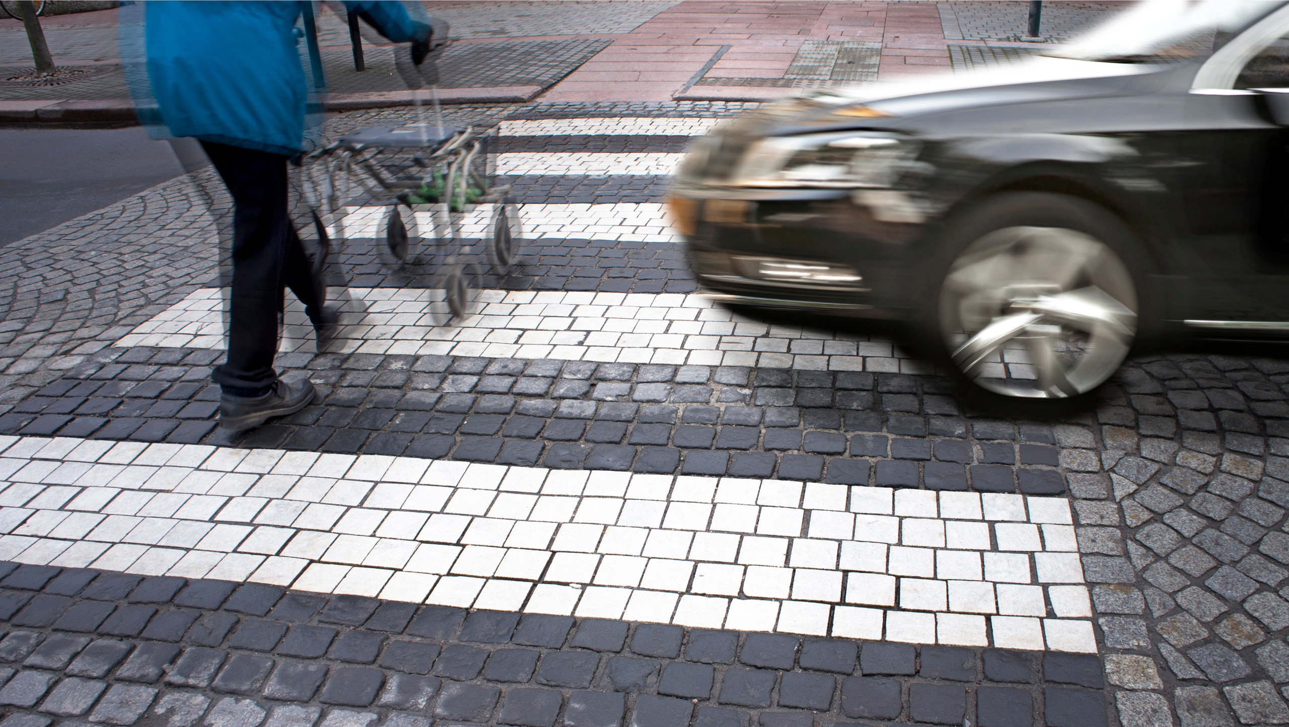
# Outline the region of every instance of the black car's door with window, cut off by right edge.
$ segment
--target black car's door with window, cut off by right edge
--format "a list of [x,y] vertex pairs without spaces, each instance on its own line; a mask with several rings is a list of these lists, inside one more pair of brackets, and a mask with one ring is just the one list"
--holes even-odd
[[1214,333],[1289,334],[1289,12],[1214,53],[1185,116],[1182,317]]

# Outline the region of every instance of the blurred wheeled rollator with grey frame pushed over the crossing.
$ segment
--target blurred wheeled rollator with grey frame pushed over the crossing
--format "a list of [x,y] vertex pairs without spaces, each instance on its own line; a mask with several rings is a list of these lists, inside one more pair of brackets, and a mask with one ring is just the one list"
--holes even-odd
[[387,208],[375,240],[380,262],[412,275],[429,268],[433,287],[442,291],[431,305],[433,321],[456,325],[477,311],[485,268],[498,277],[513,272],[522,229],[510,184],[495,183],[496,129],[443,125],[437,57],[449,45],[447,23],[432,23],[436,46],[429,55],[419,68],[398,68],[412,93],[416,122],[360,129],[303,155],[300,193],[317,233],[320,266],[344,251],[347,208],[356,199]]

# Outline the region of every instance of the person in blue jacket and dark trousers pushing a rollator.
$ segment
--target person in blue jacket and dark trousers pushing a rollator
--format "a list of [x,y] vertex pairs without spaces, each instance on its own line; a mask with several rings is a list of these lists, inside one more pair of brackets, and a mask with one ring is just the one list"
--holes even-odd
[[[419,66],[432,30],[394,1],[347,1],[394,43],[411,43]],[[278,313],[290,287],[304,303],[321,344],[339,322],[321,271],[308,259],[289,215],[286,162],[300,153],[308,90],[295,23],[300,1],[147,3],[144,48],[160,121],[195,137],[233,199],[228,358],[211,379],[219,419],[240,432],[294,414],[315,397],[308,379],[286,383],[273,369]]]

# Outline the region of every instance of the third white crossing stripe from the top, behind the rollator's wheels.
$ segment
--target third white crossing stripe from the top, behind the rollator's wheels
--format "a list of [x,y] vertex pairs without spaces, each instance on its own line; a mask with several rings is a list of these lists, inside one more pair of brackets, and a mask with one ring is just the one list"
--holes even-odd
[[[616,204],[521,204],[519,219],[526,240],[621,240],[632,242],[682,242],[681,235],[672,228],[666,209],[660,202],[616,202]],[[384,236],[384,222],[389,206],[345,208],[344,237],[371,238]],[[478,205],[459,215],[456,235],[467,238],[483,238],[489,235],[489,223],[495,213],[494,205]],[[411,215],[402,210],[403,223],[414,223],[409,233],[429,237],[432,231],[446,233],[443,213],[416,211]],[[437,223],[436,223],[437,220]],[[436,227],[437,224],[437,227]],[[331,228],[333,237],[339,232]]]

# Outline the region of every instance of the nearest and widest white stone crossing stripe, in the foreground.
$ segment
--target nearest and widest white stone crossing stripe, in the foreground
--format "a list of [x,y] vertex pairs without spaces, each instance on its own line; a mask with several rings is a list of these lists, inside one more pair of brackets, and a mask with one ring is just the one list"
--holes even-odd
[[1096,652],[1069,501],[0,437],[0,559],[445,606]]

